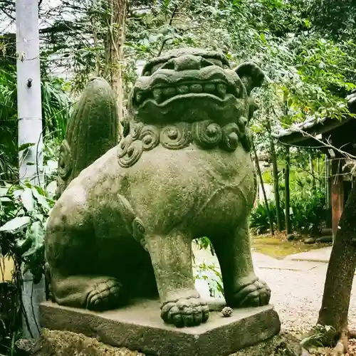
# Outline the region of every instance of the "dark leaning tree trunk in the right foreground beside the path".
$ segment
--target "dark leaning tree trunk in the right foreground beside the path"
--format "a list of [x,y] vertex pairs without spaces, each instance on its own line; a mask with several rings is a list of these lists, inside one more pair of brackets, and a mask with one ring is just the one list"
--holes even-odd
[[340,218],[340,229],[337,229],[331,251],[318,319],[318,324],[332,326],[336,336],[344,340],[347,335],[347,315],[356,269],[355,215],[356,184],[352,187]]

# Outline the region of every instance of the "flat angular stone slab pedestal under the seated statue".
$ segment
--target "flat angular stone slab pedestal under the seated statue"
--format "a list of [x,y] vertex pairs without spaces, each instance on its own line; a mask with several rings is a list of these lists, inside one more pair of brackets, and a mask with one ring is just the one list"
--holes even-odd
[[281,323],[273,306],[266,305],[235,309],[229,318],[217,310],[211,311],[203,325],[175,328],[161,320],[159,301],[147,300],[103,313],[44,302],[41,326],[82,333],[146,355],[226,356],[278,334]]

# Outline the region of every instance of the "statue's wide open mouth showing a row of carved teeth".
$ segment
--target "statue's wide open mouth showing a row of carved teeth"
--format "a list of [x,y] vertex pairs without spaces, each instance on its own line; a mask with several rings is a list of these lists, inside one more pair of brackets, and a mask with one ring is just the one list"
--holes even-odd
[[[142,105],[147,100],[154,100],[157,104],[165,104],[169,99],[179,98],[182,95],[189,94],[205,94],[223,100],[226,95],[237,96],[236,88],[232,85],[226,84],[222,80],[209,80],[197,82],[177,83],[176,85],[159,86],[152,90],[140,90],[135,95],[135,104]],[[200,95],[199,95],[200,96]]]

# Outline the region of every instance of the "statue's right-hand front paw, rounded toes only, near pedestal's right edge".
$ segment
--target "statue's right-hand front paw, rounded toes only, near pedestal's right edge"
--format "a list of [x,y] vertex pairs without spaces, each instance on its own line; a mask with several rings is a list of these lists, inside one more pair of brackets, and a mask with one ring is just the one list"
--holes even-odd
[[261,307],[267,305],[271,299],[271,289],[267,283],[257,277],[248,285],[243,286],[234,295],[234,307]]

